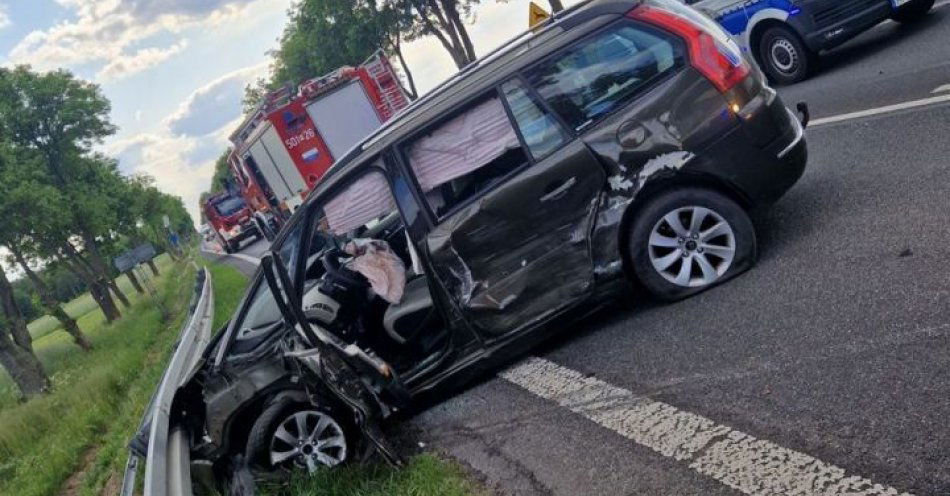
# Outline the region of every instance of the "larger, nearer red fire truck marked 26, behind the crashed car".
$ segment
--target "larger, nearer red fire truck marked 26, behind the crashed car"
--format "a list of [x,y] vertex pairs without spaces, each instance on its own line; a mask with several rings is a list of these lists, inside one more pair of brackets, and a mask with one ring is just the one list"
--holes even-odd
[[409,99],[381,53],[267,95],[231,135],[229,164],[265,236],[347,150]]

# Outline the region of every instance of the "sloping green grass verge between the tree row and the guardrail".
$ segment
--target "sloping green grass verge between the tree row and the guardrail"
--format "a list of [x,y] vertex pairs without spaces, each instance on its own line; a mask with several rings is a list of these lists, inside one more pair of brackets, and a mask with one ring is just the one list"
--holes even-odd
[[[165,268],[155,284],[161,305],[173,310],[172,322],[161,322],[156,301],[136,295],[133,307],[112,325],[99,312],[80,318],[95,346],[90,353],[78,352],[61,332],[36,341],[54,391],[26,403],[0,404],[0,494],[58,494],[80,468],[78,489],[98,494],[116,473],[191,296],[191,266]],[[86,453],[94,456],[81,467]]]

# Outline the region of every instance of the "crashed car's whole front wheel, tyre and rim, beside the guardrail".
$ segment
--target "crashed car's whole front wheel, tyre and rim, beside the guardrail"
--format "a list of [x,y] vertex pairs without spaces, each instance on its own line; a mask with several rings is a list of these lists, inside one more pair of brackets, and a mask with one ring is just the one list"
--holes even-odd
[[313,474],[352,456],[344,425],[330,410],[283,398],[268,405],[254,422],[245,456],[258,474],[292,469]]

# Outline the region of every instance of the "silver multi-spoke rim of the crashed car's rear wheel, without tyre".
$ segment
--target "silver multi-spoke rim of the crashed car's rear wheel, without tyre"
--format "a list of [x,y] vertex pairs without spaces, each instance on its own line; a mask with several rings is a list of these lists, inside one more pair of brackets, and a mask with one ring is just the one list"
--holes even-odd
[[667,281],[682,287],[708,286],[732,266],[736,235],[717,212],[681,207],[653,227],[649,255],[653,268]]

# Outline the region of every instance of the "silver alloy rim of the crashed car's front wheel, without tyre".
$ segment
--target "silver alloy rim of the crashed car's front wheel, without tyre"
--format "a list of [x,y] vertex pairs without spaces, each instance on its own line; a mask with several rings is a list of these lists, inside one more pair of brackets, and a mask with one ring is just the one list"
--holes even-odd
[[324,412],[302,410],[277,425],[270,442],[270,461],[274,466],[292,461],[314,473],[320,466],[343,463],[346,451],[340,424]]

